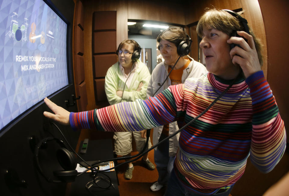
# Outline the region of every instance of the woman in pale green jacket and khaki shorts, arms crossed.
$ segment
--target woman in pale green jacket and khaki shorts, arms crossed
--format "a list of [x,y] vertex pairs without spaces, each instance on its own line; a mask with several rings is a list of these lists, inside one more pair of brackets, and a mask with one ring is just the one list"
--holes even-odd
[[[148,67],[139,59],[141,47],[134,40],[124,40],[117,49],[118,62],[107,70],[105,76],[105,93],[110,105],[145,99],[148,81],[151,74]],[[144,148],[146,141],[146,130],[140,132],[115,132],[113,138],[114,150],[117,155],[130,156],[132,152],[132,134],[135,138],[138,152]],[[149,146],[151,142],[149,140]],[[128,160],[126,160],[128,161]],[[148,153],[142,158],[142,162],[149,170],[155,166],[148,159]],[[125,178],[132,178],[133,164],[128,163]]]

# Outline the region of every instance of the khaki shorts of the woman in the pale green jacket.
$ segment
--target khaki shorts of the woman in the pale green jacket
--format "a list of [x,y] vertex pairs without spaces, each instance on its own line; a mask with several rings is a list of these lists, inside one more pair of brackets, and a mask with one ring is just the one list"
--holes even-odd
[[[127,155],[132,152],[132,134],[135,138],[136,150],[141,152],[144,148],[146,138],[141,137],[141,133],[139,131],[132,131],[132,132],[115,132],[113,138],[114,141],[114,150],[115,154],[123,156]],[[148,147],[151,148],[151,139],[148,140]]]

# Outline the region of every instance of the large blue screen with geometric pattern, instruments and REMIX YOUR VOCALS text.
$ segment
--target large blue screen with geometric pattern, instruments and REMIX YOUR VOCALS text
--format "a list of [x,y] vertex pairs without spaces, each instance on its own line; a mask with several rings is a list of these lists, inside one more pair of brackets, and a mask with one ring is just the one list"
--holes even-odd
[[67,24],[42,0],[0,1],[0,129],[66,85]]

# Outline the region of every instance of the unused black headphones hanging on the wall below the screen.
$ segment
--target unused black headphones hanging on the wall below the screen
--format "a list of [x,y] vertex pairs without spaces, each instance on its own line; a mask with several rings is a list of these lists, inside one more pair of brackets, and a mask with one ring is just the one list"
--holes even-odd
[[[39,164],[39,160],[38,160],[38,152],[39,152],[39,148],[41,148],[41,145],[43,143],[46,143],[46,142],[52,141],[52,140],[55,140],[61,146],[61,148],[57,150],[56,156],[57,156],[59,164],[61,165],[61,167],[64,170],[53,171],[54,176],[56,176],[58,178],[58,180],[50,179],[49,177],[47,177],[43,173],[42,168],[40,167],[40,164]],[[67,150],[67,146],[65,145],[65,143],[61,139],[58,139],[55,137],[47,137],[47,138],[43,139],[36,146],[34,154],[35,154],[34,157],[35,157],[35,161],[36,161],[36,166],[38,167],[38,170],[41,173],[41,175],[48,182],[56,183],[56,182],[73,182],[73,181],[75,181],[76,175],[78,174],[78,172],[76,170],[76,160],[75,160],[75,157],[70,153],[70,151]]]

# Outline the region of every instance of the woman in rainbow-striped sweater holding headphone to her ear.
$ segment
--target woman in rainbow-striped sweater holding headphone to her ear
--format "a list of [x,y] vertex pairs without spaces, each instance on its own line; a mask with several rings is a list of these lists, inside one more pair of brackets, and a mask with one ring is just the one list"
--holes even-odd
[[200,78],[170,86],[148,100],[86,112],[68,112],[45,98],[54,114],[44,115],[74,129],[140,131],[173,121],[182,127],[233,82],[204,115],[181,131],[165,194],[229,195],[249,156],[267,173],[286,147],[284,123],[260,68],[260,44],[243,19],[232,11],[216,9],[200,18],[197,33],[209,72]]

